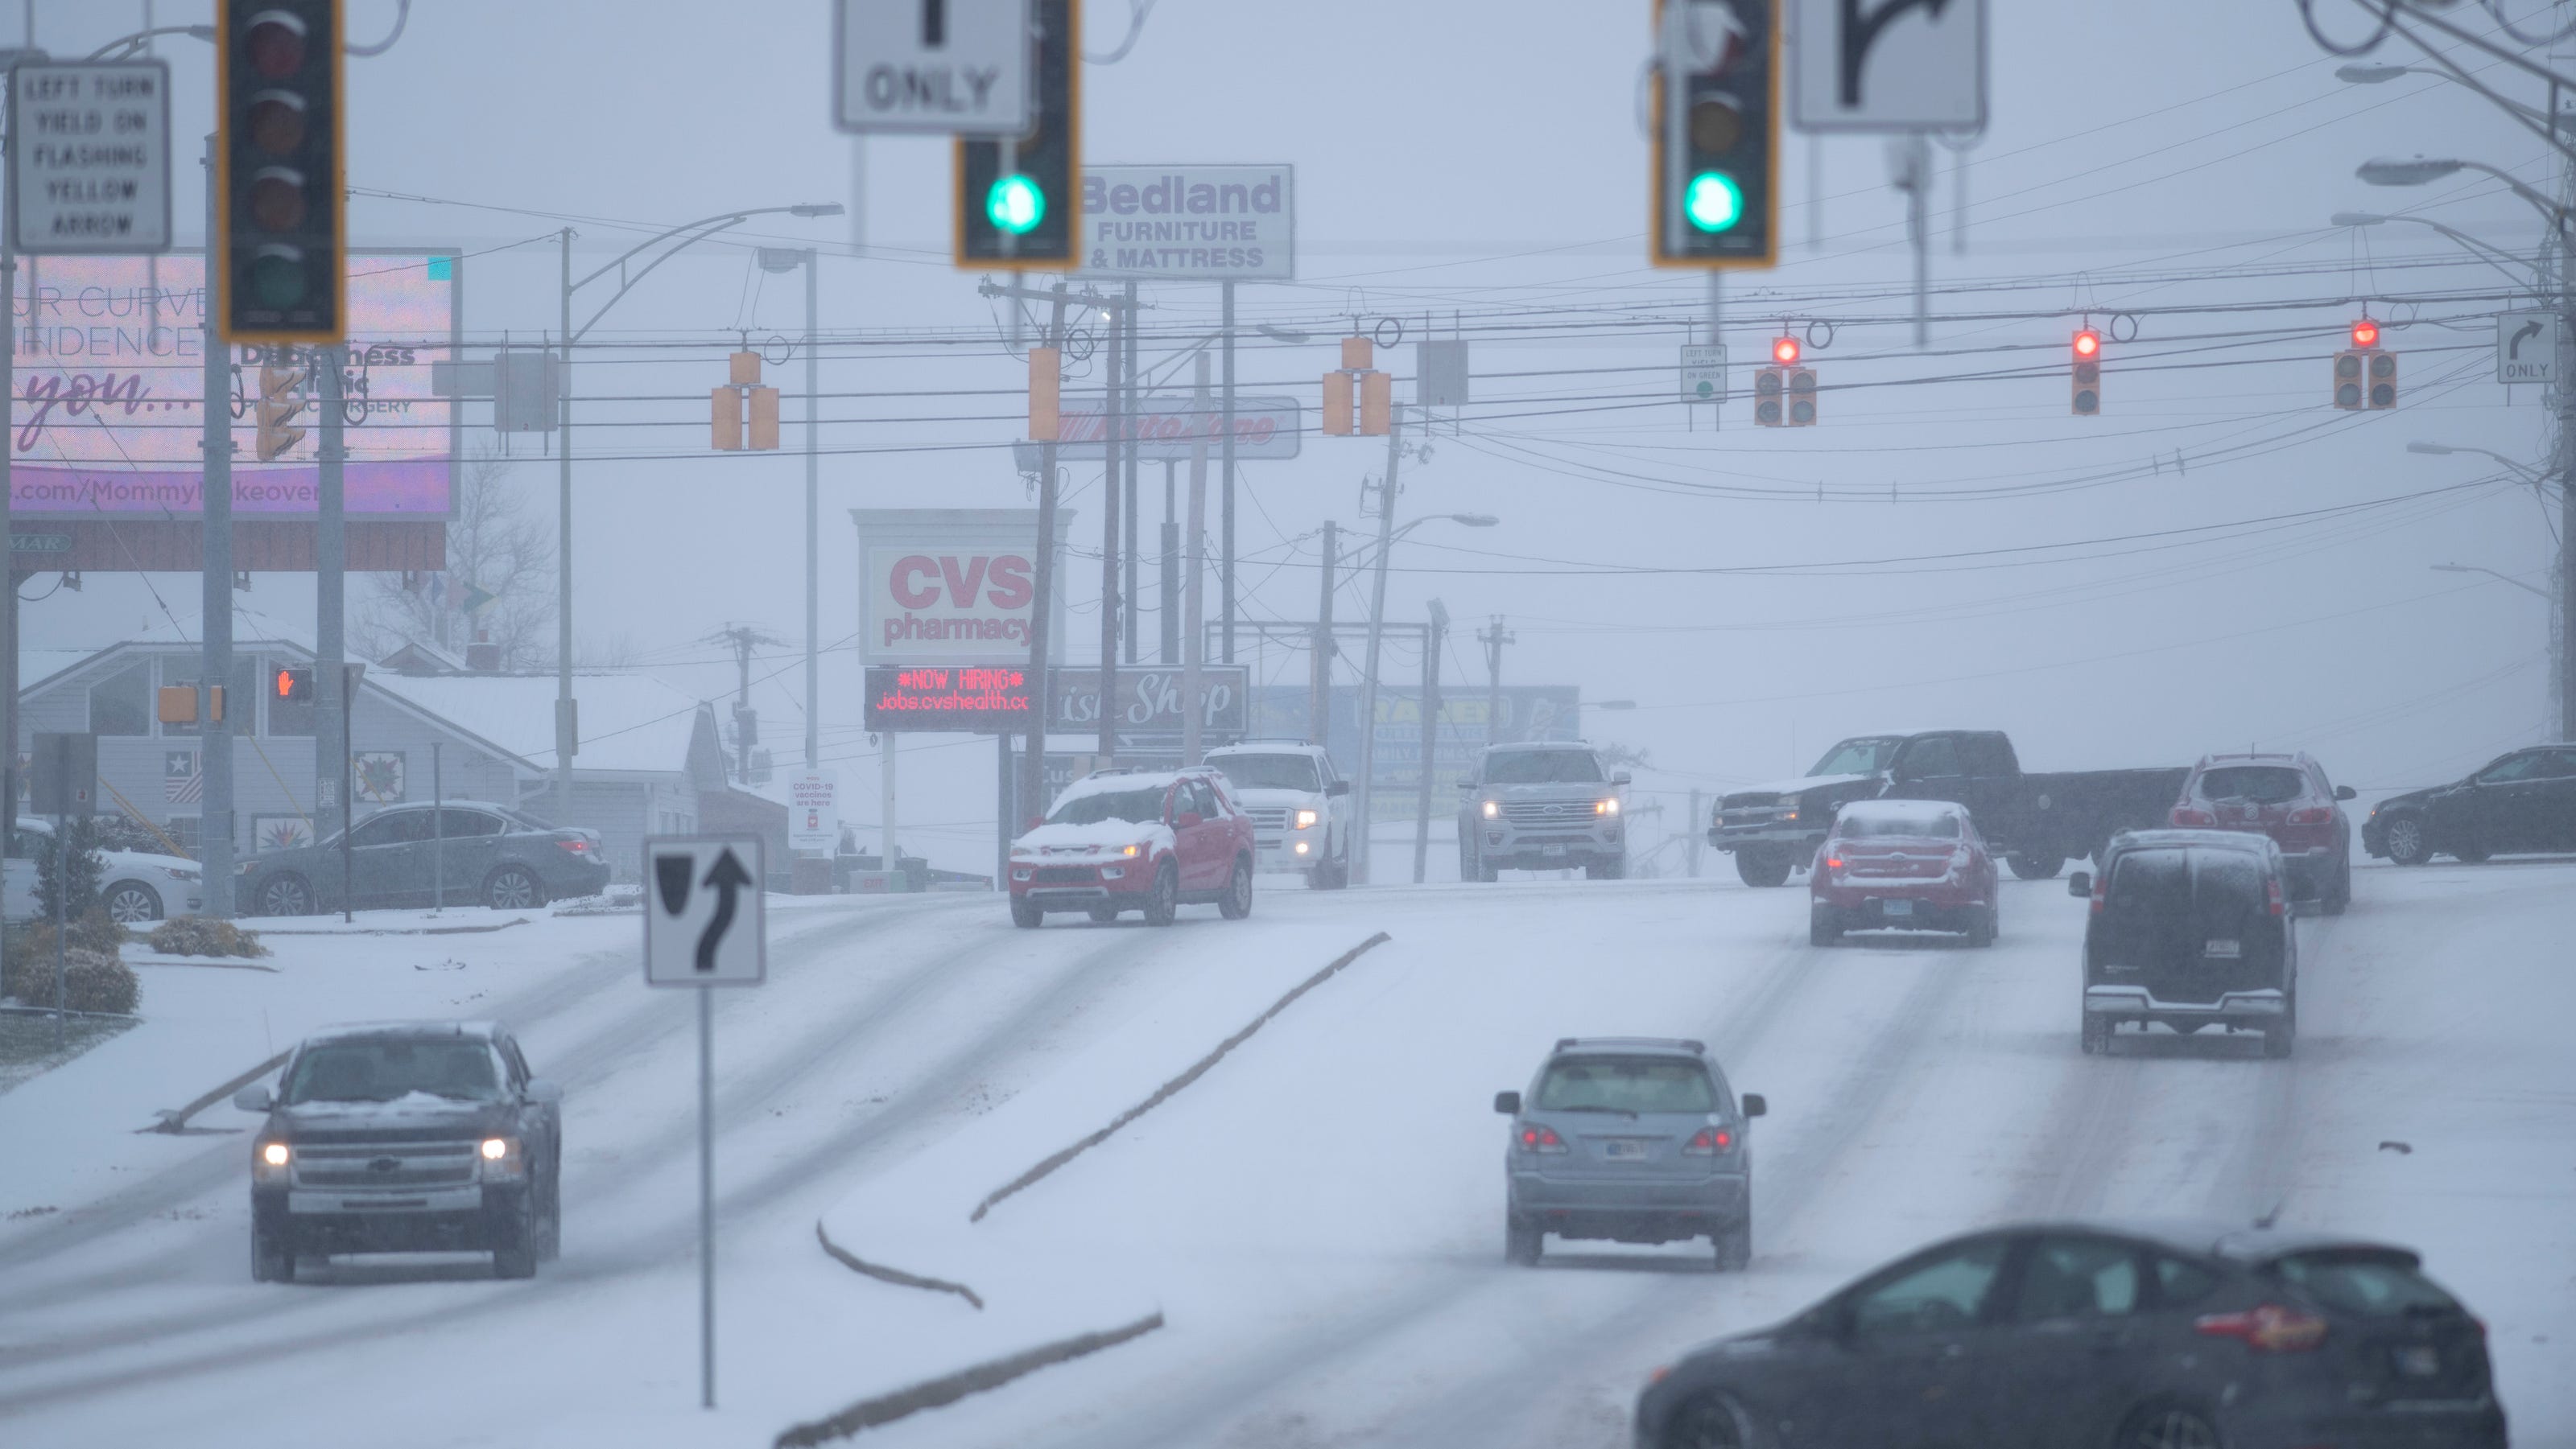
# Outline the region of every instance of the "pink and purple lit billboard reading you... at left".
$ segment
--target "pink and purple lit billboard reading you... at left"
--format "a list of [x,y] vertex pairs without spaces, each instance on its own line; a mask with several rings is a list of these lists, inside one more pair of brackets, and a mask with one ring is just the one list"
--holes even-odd
[[[430,365],[461,342],[453,252],[361,252],[348,263],[348,368],[340,378],[350,520],[438,522],[451,512],[459,417]],[[206,263],[23,257],[10,314],[10,515],[198,517],[204,507]],[[312,520],[322,427],[276,461],[255,456],[252,407],[270,347],[232,347],[232,512]],[[301,360],[301,358],[296,358]]]

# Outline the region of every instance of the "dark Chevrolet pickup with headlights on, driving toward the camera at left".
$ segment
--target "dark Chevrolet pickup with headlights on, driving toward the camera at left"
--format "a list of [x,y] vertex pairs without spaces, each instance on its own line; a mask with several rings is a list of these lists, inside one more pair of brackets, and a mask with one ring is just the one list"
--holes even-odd
[[250,1277],[330,1253],[484,1251],[523,1279],[564,1233],[562,1089],[492,1022],[332,1027],[245,1086]]

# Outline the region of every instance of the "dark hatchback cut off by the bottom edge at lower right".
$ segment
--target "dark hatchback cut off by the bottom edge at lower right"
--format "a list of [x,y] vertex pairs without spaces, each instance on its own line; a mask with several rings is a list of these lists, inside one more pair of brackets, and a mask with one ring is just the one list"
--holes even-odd
[[1638,1449],[2504,1441],[2486,1328],[2414,1251],[2233,1225],[1950,1238],[1636,1398]]

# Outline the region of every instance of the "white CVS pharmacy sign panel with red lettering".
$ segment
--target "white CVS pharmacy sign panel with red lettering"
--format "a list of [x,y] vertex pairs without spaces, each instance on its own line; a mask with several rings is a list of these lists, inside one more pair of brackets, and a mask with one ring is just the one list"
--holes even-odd
[[[1038,510],[876,507],[858,522],[860,664],[1028,664],[1038,602]],[[1054,643],[1064,643],[1061,551],[1074,512],[1056,510]]]

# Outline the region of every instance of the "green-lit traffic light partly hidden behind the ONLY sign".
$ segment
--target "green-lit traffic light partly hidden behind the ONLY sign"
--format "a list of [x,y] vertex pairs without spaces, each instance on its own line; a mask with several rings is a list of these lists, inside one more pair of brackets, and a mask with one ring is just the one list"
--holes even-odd
[[1082,0],[1036,0],[1038,129],[1010,147],[958,139],[956,265],[1066,270],[1082,237]]

